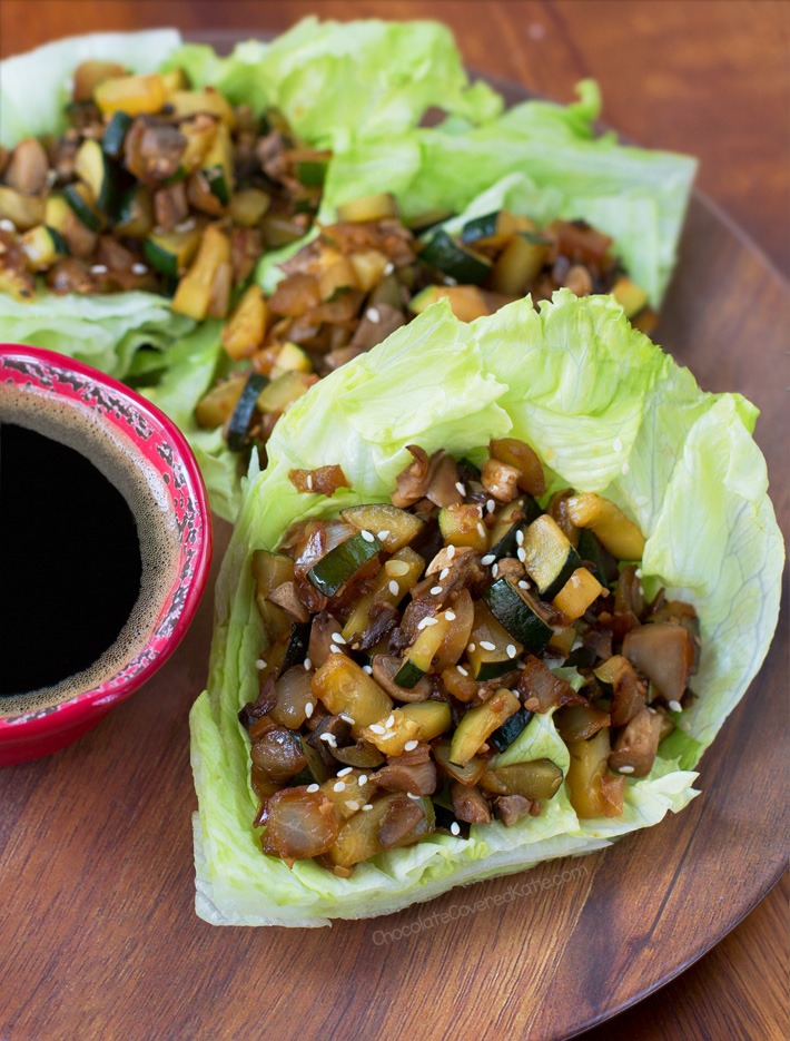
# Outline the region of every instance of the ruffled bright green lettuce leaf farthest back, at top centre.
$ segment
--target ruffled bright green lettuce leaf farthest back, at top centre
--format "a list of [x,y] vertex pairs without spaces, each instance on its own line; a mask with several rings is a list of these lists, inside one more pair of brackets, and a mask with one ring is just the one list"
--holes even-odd
[[270,43],[239,43],[228,58],[187,45],[167,66],[181,66],[196,86],[211,85],[235,104],[280,109],[318,147],[397,137],[432,106],[471,122],[502,108],[485,84],[470,86],[452,32],[432,21],[305,18]]

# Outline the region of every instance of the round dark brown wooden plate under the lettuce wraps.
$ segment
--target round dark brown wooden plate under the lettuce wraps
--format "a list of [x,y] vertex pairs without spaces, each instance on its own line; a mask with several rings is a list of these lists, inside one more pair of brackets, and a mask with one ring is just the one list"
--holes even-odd
[[[784,282],[695,195],[656,338],[704,389],[762,410],[786,536],[788,327]],[[215,574],[228,531],[217,524]],[[192,910],[187,716],[210,634],[207,598],[144,690],[65,752],[0,773],[3,1037],[570,1037],[682,972],[783,868],[787,597],[682,814],[385,919],[207,925]]]

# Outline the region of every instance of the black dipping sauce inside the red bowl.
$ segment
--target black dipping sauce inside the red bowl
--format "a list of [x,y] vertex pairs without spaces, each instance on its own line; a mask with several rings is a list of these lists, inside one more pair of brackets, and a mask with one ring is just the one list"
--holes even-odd
[[135,517],[80,452],[0,424],[0,696],[88,668],[140,592]]

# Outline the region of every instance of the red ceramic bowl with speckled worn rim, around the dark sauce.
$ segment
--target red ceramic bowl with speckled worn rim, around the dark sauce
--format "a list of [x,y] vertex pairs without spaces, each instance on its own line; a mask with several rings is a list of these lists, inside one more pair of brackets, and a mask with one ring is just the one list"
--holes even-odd
[[[53,351],[0,344],[2,395],[23,391],[73,405],[97,419],[128,451],[161,478],[159,494],[175,518],[179,559],[145,645],[109,679],[47,708],[13,715],[0,697],[0,766],[36,759],[76,740],[167,660],[186,634],[206,587],[211,558],[211,519],[191,449],[174,423],[134,391]],[[0,668],[1,668],[0,662]],[[3,703],[6,701],[6,705]]]

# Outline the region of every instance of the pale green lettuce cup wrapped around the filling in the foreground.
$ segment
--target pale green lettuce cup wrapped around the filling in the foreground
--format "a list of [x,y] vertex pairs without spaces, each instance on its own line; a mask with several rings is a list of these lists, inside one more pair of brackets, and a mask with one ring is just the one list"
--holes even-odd
[[[436,304],[310,389],[247,485],[217,581],[208,690],[190,715],[197,913],[216,924],[303,926],[387,914],[454,885],[602,848],[683,808],[697,794],[692,768],[760,668],[778,618],[783,544],[751,438],[756,419],[739,395],[701,391],[613,301],[567,291],[540,311],[527,298],[468,325]],[[257,694],[264,641],[250,553],[276,549],[297,519],[386,501],[408,443],[464,454],[505,434],[536,449],[552,488],[600,491],[642,527],[648,589],[664,585],[700,616],[698,700],[675,717],[650,776],[628,779],[622,817],[580,821],[563,795],[541,817],[473,827],[468,839],[434,835],[358,865],[348,880],[309,861],[289,871],[263,855],[251,827],[237,718]],[[343,467],[352,490],[303,495],[288,480],[293,467],[328,463]],[[535,740],[554,739],[551,719],[539,726],[525,757]]]

